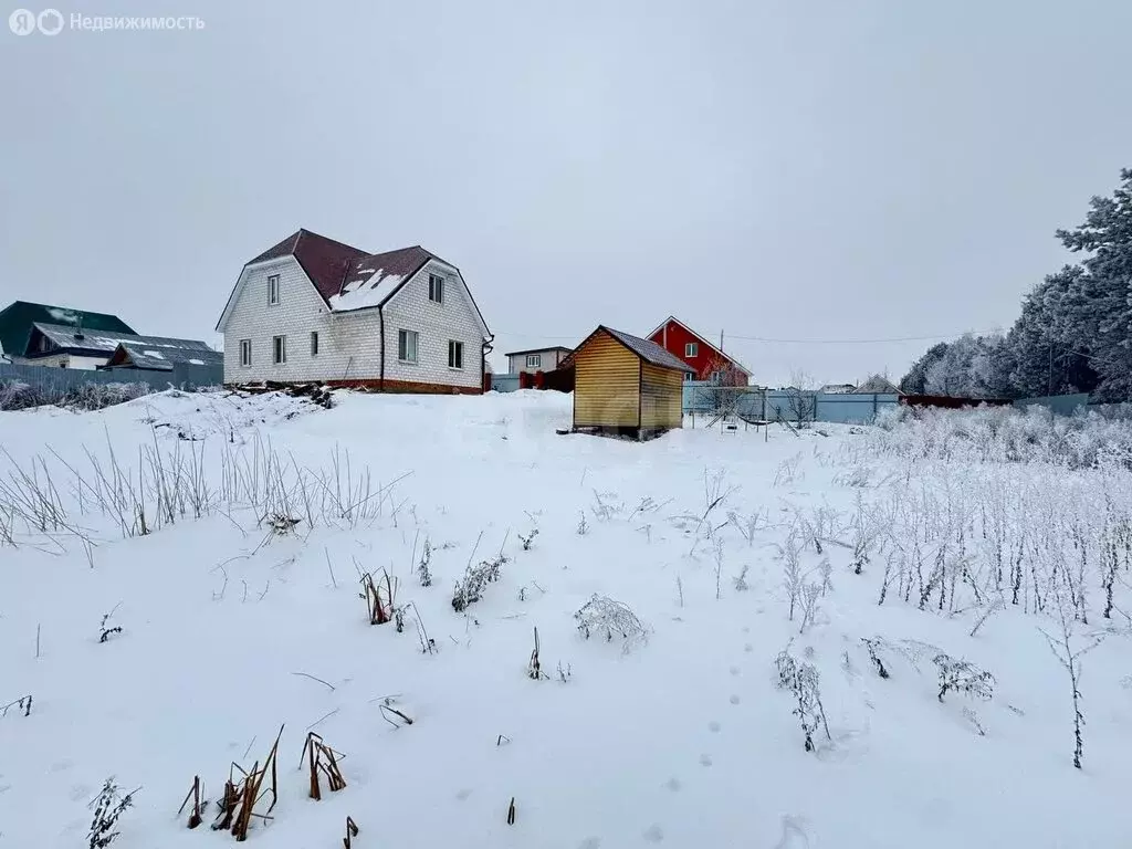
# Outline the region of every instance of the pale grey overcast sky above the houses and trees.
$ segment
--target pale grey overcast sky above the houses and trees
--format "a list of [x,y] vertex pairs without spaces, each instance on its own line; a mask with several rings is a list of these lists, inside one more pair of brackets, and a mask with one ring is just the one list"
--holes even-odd
[[1132,165],[1129,0],[55,8],[205,22],[0,29],[0,300],[140,333],[218,342],[305,226],[456,264],[497,353],[675,314],[899,378],[933,340],[833,341],[1009,327]]

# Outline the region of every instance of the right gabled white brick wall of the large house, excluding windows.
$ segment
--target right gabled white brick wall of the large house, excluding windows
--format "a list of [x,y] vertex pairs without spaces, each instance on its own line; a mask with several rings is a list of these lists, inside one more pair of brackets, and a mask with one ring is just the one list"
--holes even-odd
[[[444,303],[428,299],[428,275],[439,274],[444,282]],[[417,362],[397,361],[397,331],[417,331]],[[385,377],[391,380],[482,386],[480,355],[483,336],[475,319],[475,308],[464,294],[460,277],[447,266],[430,261],[414,274],[385,305],[387,349]],[[448,368],[448,340],[464,343],[464,367]]]

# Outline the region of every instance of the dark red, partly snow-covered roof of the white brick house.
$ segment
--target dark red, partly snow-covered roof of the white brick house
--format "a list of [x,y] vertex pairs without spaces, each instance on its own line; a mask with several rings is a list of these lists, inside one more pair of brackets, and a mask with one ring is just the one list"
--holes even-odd
[[[460,269],[445,261],[420,245],[411,248],[398,248],[383,254],[371,254],[345,242],[327,239],[310,230],[300,229],[277,245],[273,245],[259,256],[245,264],[256,265],[271,259],[293,256],[302,271],[310,278],[315,289],[321,295],[326,306],[334,312],[351,312],[358,309],[380,307],[395,295],[410,277],[424,267],[430,259],[443,263],[460,275],[461,283],[475,310],[483,335],[491,337],[483,314],[480,312],[475,298],[464,282]],[[239,281],[229,295],[224,312],[221,314],[216,329],[220,329],[228,315],[232,299],[239,291]]]

